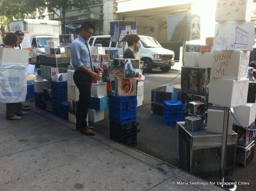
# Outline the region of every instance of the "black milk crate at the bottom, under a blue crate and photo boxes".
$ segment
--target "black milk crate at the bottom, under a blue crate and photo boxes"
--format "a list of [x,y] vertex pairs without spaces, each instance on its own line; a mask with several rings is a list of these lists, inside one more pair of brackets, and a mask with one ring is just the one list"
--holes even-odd
[[110,121],[110,138],[128,146],[136,146],[137,121],[124,124]]

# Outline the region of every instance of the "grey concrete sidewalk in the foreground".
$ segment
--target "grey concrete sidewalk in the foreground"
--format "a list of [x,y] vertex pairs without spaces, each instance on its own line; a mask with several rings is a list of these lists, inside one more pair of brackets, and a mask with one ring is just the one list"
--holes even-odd
[[108,137],[82,135],[32,105],[21,120],[5,112],[0,104],[0,191],[222,190]]

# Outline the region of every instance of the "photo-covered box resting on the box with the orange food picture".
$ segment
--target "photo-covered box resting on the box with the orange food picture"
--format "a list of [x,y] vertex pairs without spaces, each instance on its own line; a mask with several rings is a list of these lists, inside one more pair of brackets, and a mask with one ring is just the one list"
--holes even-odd
[[114,76],[117,78],[138,78],[140,72],[138,59],[114,59]]

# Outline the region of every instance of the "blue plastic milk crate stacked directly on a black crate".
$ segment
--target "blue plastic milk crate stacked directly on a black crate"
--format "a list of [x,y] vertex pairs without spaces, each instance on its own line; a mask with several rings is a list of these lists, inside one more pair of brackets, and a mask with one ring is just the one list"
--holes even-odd
[[110,94],[108,99],[110,121],[119,124],[136,121],[136,96],[116,96],[116,94]]

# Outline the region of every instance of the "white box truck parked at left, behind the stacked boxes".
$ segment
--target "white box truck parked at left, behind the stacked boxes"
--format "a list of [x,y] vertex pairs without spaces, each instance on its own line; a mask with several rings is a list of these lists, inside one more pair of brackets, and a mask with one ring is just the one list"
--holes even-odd
[[28,31],[30,35],[32,62],[39,66],[39,54],[45,54],[46,40],[55,40],[59,43],[61,22],[56,20],[20,19],[10,22],[10,32]]

